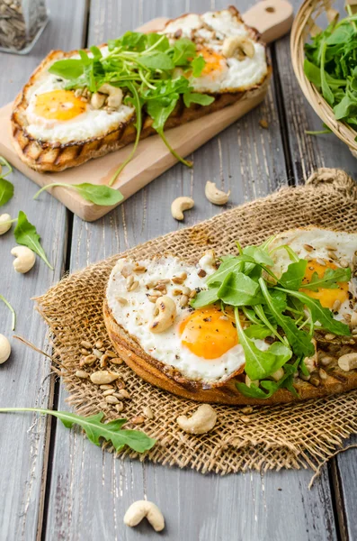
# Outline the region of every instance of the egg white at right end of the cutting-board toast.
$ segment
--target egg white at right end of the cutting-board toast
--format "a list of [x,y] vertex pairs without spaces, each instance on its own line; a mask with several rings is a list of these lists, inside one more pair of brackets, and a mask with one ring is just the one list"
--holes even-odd
[[248,37],[254,45],[254,57],[245,60],[227,59],[226,66],[210,75],[190,78],[192,87],[198,92],[224,93],[247,90],[262,82],[267,75],[265,48],[252,38],[251,32],[229,10],[188,14],[179,17],[165,26],[163,33],[173,38],[181,31],[181,37],[197,41],[207,49],[222,53],[225,38],[235,35]]

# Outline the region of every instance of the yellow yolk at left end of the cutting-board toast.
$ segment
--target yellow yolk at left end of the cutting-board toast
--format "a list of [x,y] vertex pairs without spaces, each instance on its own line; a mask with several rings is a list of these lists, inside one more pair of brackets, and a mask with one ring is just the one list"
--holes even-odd
[[67,121],[82,115],[86,104],[70,90],[51,90],[37,96],[35,112],[49,120]]

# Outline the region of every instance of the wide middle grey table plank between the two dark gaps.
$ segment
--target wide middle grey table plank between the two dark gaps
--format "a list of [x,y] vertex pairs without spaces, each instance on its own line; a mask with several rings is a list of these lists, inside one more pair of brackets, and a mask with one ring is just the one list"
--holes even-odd
[[[95,0],[91,3],[88,40],[105,41],[156,16],[174,17],[225,5],[224,0],[134,0],[130,5]],[[248,0],[240,3],[242,11],[248,5]],[[230,206],[262,197],[286,184],[276,108],[272,85],[261,107],[194,152],[192,171],[176,165],[94,224],[75,217],[71,270],[224,212],[204,197],[207,179],[231,188]],[[267,118],[269,130],[259,126],[262,117]],[[179,195],[193,195],[196,201],[183,225],[178,225],[169,211]],[[61,389],[58,408],[67,408],[66,396]],[[156,533],[146,524],[136,529],[122,524],[129,504],[147,498],[163,509],[167,528],[162,537],[171,541],[336,539],[326,471],[313,491],[308,491],[310,477],[309,471],[203,476],[152,463],[120,462],[82,435],[58,425],[46,538],[154,538]]]

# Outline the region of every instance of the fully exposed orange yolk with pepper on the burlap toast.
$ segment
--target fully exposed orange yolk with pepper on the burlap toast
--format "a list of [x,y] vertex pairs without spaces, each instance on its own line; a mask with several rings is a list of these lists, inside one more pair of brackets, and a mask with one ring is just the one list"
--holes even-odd
[[217,359],[238,343],[235,318],[217,307],[194,310],[179,326],[181,342],[197,357]]

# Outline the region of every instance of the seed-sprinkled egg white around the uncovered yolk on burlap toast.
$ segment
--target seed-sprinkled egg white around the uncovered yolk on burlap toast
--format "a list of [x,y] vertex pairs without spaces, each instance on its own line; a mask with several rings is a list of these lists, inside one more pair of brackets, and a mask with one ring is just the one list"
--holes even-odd
[[[205,267],[207,276],[215,271],[208,264],[208,261],[203,260],[201,263],[200,268]],[[134,261],[125,260],[125,264],[133,265]],[[134,274],[139,285],[134,291],[128,292],[125,278],[120,273],[123,261],[118,261],[111,273],[106,298],[112,310],[112,316],[117,323],[129,335],[136,338],[138,344],[146,353],[157,361],[173,366],[186,378],[208,384],[227,380],[230,374],[244,365],[245,354],[240,344],[237,344],[217,359],[204,359],[193,354],[181,343],[179,326],[183,319],[189,316],[190,308],[179,306],[180,297],[174,297],[172,292],[173,289],[180,289],[181,286],[173,283],[167,284],[166,287],[167,295],[174,298],[176,303],[177,316],[174,325],[163,333],[152,333],[149,330],[149,324],[154,318],[155,304],[147,299],[147,284],[163,279],[171,280],[184,271],[187,273],[185,286],[190,289],[207,289],[205,286],[206,277],[201,278],[198,276],[198,267],[188,265],[173,256],[155,257],[151,260],[138,261],[138,264],[145,266],[147,271],[144,274]],[[125,298],[128,304],[123,306],[118,301],[118,297]],[[255,340],[255,344],[262,350],[269,347],[262,340]]]

